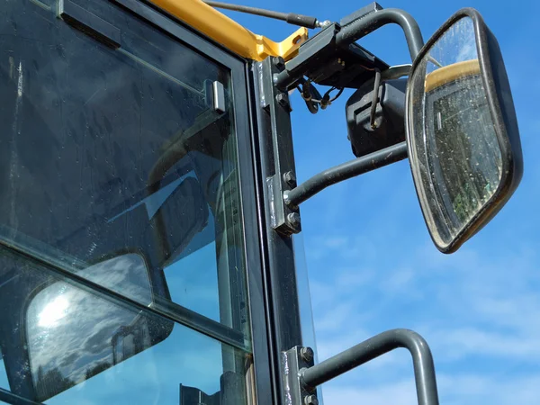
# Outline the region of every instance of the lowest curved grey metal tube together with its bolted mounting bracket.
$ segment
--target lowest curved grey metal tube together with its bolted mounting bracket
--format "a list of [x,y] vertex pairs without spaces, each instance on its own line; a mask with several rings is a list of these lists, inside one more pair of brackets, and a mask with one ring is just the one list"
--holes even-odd
[[[293,398],[293,404],[314,403],[315,388],[321,383],[326,383],[399,347],[409,350],[412,356],[419,405],[438,405],[437,378],[431,350],[424,338],[409,329],[388,330],[330,357],[319,365],[305,365],[306,359],[302,357],[302,353],[306,350],[294,347],[285,356],[288,362],[287,369],[290,370],[288,375],[296,377],[295,382],[288,381],[289,387],[293,390],[287,394]],[[306,399],[307,397],[311,398]]]

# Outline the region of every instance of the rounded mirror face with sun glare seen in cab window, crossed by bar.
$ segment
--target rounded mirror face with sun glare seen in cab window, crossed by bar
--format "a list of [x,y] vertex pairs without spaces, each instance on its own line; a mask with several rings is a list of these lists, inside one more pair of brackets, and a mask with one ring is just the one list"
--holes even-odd
[[[129,253],[81,270],[105,287],[122,285],[132,300],[152,302],[145,260]],[[80,286],[57,282],[30,302],[26,333],[31,377],[39,401],[63,392],[156,344],[149,320]]]

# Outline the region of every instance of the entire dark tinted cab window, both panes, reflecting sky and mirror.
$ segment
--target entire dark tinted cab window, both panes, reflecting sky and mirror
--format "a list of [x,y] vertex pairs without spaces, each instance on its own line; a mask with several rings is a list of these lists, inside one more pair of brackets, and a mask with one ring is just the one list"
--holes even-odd
[[[228,67],[112,2],[4,2],[1,388],[177,404],[179,387],[187,399],[234,386],[244,401],[232,88]],[[112,391],[85,388],[100,384]]]

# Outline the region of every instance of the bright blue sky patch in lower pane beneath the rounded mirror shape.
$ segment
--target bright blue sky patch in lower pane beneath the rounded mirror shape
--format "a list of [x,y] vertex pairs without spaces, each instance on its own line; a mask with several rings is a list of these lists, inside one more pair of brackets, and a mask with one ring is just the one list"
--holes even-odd
[[220,344],[175,325],[172,334],[157,346],[77,384],[47,403],[178,405],[180,383],[213,394],[220,390],[221,374]]

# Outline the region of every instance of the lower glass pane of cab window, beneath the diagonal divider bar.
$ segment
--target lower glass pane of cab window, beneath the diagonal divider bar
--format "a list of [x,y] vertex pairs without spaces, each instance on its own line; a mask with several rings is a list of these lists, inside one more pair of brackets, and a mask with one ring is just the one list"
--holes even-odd
[[[1,303],[9,310],[0,316],[2,325],[14,325],[20,312],[13,310],[32,297],[25,334],[15,329],[2,336],[4,347],[11,347],[6,374],[12,382],[2,388],[49,404],[172,405],[178,404],[182,385],[185,395],[218,392],[244,403],[246,352],[1,249],[0,277],[9,274],[7,268],[18,274],[0,287]],[[32,295],[36,290],[40,293]]]

